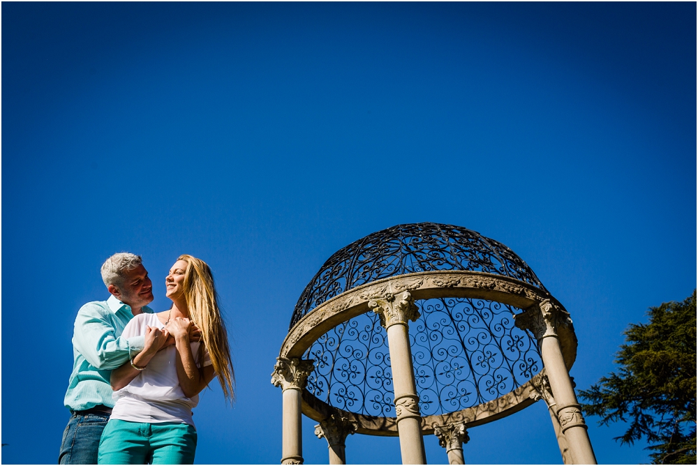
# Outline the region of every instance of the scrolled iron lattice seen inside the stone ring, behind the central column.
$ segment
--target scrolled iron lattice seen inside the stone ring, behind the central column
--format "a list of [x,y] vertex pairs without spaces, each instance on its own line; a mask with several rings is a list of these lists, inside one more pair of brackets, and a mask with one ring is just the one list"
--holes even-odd
[[[496,301],[439,298],[416,301],[410,324],[422,415],[445,414],[503,396],[542,368],[535,341],[514,326],[514,310]],[[366,313],[313,343],[306,389],[325,403],[357,414],[394,416],[385,329]]]

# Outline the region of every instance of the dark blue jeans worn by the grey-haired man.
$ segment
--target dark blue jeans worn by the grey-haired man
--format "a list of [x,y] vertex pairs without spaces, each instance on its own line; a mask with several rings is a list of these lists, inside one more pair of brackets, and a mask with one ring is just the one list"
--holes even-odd
[[63,432],[59,465],[96,465],[99,439],[109,421],[107,414],[73,413]]

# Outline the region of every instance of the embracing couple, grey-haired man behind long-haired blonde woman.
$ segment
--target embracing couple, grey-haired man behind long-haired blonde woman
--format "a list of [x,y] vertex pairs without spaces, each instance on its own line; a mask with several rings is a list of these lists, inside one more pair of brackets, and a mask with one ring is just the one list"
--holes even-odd
[[172,307],[154,313],[141,257],[103,264],[111,296],[77,313],[73,373],[60,464],[193,464],[191,409],[218,376],[232,399],[235,375],[209,266],[181,255],[165,278]]

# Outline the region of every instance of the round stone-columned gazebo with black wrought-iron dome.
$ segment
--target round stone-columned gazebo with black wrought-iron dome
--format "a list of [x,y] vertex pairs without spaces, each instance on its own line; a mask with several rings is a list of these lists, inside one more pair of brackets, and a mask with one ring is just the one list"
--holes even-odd
[[295,306],[272,384],[282,464],[302,464],[301,416],[329,463],[350,434],[399,436],[426,464],[436,435],[463,464],[468,430],[543,400],[565,464],[596,464],[569,370],[570,314],[510,248],[453,225],[397,225],[343,248]]

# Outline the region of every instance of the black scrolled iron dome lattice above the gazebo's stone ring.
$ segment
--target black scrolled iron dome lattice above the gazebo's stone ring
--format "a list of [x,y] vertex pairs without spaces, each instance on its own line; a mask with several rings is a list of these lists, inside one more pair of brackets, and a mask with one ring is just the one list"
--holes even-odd
[[369,234],[329,257],[301,294],[289,329],[310,310],[359,285],[433,270],[495,273],[547,292],[526,262],[498,241],[454,225],[396,225]]

